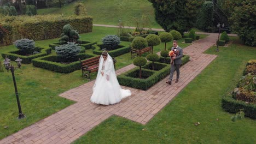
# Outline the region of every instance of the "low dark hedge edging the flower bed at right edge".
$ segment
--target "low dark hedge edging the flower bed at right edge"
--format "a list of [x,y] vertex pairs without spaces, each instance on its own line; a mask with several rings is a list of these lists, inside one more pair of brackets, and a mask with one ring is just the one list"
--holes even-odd
[[246,103],[245,101],[235,100],[231,95],[224,95],[222,98],[222,107],[225,111],[236,113],[243,109],[245,116],[256,118],[256,104]]

